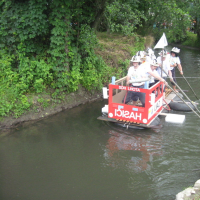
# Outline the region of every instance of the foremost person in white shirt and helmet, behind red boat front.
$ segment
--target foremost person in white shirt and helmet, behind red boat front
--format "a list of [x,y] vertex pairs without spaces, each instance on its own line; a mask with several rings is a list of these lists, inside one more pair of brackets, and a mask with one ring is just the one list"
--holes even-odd
[[[133,56],[130,62],[132,63],[132,66],[128,70],[127,78],[126,78],[126,84],[127,86],[136,87],[136,88],[144,88],[144,80],[147,79],[147,73],[156,79],[164,82],[167,84],[167,82],[161,78],[160,76],[156,75],[154,72],[152,72],[151,68],[147,67],[147,65],[144,67],[141,67],[139,63],[142,60],[140,59],[140,56]],[[124,96],[122,103],[127,104],[129,101],[133,101],[133,105],[136,105],[138,99],[141,101],[142,106],[145,106],[145,93],[142,92],[134,92],[134,91],[128,91],[126,95]]]

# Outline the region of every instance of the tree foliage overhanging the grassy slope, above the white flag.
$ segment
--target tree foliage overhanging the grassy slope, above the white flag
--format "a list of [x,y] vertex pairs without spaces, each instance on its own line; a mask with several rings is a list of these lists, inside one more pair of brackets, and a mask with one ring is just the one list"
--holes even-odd
[[170,41],[182,41],[190,26],[190,4],[188,0],[115,0],[107,3],[98,30],[124,35],[154,33],[159,38],[165,29]]

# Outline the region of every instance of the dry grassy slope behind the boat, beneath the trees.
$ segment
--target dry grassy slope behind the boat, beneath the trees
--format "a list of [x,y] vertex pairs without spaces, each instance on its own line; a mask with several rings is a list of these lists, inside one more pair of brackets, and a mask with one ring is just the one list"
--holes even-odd
[[97,38],[99,47],[95,52],[108,66],[115,68],[127,65],[137,51],[143,51],[154,44],[154,38],[151,36],[123,36],[117,33],[98,32]]

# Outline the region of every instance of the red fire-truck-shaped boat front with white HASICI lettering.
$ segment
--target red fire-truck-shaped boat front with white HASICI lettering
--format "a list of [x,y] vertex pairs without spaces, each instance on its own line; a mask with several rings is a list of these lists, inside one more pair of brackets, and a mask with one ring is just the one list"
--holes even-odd
[[[108,99],[108,105],[102,108],[102,116],[99,120],[114,122],[124,127],[152,128],[160,124],[158,115],[163,108],[163,86],[162,82],[157,82],[151,88],[142,89],[126,86],[126,77],[117,81],[112,81],[109,88],[103,88],[104,99]],[[129,102],[123,103],[123,98],[128,91],[145,93],[145,107],[138,102],[136,106]],[[167,104],[175,97],[173,93],[167,94]],[[173,114],[171,114],[173,115]],[[184,116],[184,115],[183,115]]]

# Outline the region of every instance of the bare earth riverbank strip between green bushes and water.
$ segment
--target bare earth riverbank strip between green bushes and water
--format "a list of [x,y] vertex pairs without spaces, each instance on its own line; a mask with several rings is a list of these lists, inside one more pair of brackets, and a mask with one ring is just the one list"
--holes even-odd
[[[35,95],[32,109],[18,118],[14,118],[13,116],[4,117],[0,122],[0,129],[2,131],[4,130],[5,133],[7,132],[7,129],[16,128],[22,123],[44,119],[45,117],[54,115],[63,110],[67,110],[87,102],[95,101],[101,98],[101,96],[101,91],[88,92],[86,89],[80,86],[76,92],[67,94],[61,103],[52,102],[48,107],[44,108],[41,103],[38,103],[38,99],[41,97]],[[51,97],[50,95],[43,95],[42,98],[50,99]]]

